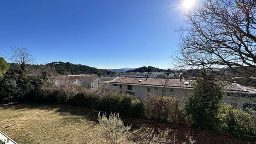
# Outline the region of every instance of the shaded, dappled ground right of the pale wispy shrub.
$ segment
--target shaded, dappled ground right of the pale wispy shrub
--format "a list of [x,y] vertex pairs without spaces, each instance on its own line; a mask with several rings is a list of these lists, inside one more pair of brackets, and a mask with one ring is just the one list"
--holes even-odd
[[226,135],[215,135],[210,131],[192,129],[185,125],[173,127],[168,123],[145,119],[128,121],[133,125],[129,140],[136,144],[256,144]]

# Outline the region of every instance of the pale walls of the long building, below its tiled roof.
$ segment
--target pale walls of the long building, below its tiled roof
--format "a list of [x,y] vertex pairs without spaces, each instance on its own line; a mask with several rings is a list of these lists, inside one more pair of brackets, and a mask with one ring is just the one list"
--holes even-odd
[[[128,85],[122,85],[122,88],[120,88],[119,84],[117,84],[117,86],[113,86],[113,84],[106,84],[106,86],[117,93],[134,92],[134,96],[140,99],[145,98],[147,94],[161,95],[163,89],[162,87],[156,87],[158,89],[158,91],[156,92],[154,86],[149,86],[150,92],[148,92],[148,86],[132,86],[132,90],[128,90]],[[174,93],[171,93],[171,89],[173,89]],[[181,100],[182,104],[184,104],[185,101],[187,101],[189,96],[192,94],[192,92],[193,89],[191,88],[165,88],[164,95],[177,97],[179,100]],[[230,104],[232,106],[237,106],[239,108],[243,108],[244,103],[255,103],[247,97],[229,96],[227,95],[226,91],[224,92],[224,98],[222,102]]]

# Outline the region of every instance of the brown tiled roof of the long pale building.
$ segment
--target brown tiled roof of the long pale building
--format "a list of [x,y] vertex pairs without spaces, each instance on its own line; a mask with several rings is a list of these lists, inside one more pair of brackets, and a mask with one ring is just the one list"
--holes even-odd
[[[172,87],[187,87],[193,88],[192,83],[195,80],[186,80],[182,79],[157,79],[157,78],[129,78],[129,77],[118,77],[112,81],[105,82],[105,83],[121,83],[121,84],[133,84],[133,85],[148,85],[148,86],[172,86]],[[188,84],[188,85],[185,85]],[[244,86],[235,83],[228,83],[223,86],[223,90],[230,90],[230,91],[244,91],[249,92]]]

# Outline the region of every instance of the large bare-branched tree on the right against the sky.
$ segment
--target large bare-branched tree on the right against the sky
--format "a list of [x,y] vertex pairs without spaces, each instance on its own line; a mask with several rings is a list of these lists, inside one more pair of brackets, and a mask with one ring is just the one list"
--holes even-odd
[[256,86],[256,0],[207,0],[187,17],[177,66],[204,67],[222,78],[232,76],[229,81],[243,78],[237,83]]

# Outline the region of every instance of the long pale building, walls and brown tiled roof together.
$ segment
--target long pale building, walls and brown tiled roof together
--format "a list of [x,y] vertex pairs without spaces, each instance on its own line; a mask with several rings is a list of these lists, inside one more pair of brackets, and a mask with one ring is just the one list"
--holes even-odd
[[[140,99],[144,99],[148,94],[161,95],[163,92],[164,96],[177,97],[182,103],[193,92],[192,80],[118,77],[101,84],[116,93],[128,93]],[[252,99],[241,96],[243,94],[251,94],[256,97],[254,89],[247,90],[243,86],[233,85],[225,87],[222,102],[239,108],[256,105]]]

